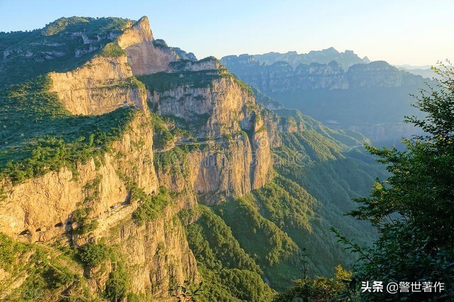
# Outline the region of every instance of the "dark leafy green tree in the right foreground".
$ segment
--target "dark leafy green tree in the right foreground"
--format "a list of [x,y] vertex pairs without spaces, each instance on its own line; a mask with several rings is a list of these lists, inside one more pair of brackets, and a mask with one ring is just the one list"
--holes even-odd
[[363,260],[358,281],[440,281],[441,293],[371,293],[368,300],[447,301],[454,297],[454,69],[434,68],[441,76],[435,87],[421,89],[414,106],[425,118],[407,116],[426,135],[403,140],[404,151],[367,147],[387,165],[391,176],[378,181],[362,205],[350,215],[369,220],[379,231],[370,250],[351,245]]

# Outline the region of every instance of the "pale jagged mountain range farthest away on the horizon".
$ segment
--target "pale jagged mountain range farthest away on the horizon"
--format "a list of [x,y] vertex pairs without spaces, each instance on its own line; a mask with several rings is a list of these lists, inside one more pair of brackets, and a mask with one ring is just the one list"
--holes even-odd
[[[248,56],[248,55],[240,55]],[[298,65],[310,65],[311,63],[328,64],[331,61],[338,62],[343,69],[355,64],[370,63],[367,57],[362,59],[351,50],[345,52],[338,52],[334,47],[327,48],[326,50],[312,50],[309,53],[297,53],[296,51],[289,51],[287,53],[267,52],[263,55],[252,55],[261,65],[272,65],[275,62],[287,62],[292,67]],[[228,57],[227,57],[228,58]]]

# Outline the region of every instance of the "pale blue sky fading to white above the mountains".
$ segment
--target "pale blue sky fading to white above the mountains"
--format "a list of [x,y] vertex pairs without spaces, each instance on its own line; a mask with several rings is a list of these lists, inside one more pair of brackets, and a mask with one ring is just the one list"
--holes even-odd
[[0,0],[0,31],[62,16],[148,16],[155,38],[199,59],[335,47],[394,65],[435,65],[454,59],[453,13],[453,0]]

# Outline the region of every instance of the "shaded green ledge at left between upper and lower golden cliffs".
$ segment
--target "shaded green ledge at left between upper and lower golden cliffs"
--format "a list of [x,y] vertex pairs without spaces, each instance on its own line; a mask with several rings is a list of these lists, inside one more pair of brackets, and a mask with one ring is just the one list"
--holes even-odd
[[72,116],[49,77],[0,89],[0,178],[13,184],[101,155],[135,116],[119,108],[102,116]]

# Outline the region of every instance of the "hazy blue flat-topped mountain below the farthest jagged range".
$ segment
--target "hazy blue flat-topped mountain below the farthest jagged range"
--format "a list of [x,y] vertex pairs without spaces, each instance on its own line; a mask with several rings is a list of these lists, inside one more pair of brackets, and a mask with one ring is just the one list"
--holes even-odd
[[411,107],[428,81],[404,72],[387,62],[341,64],[314,62],[292,67],[287,62],[260,64],[255,56],[223,57],[223,65],[247,84],[279,101],[297,108],[333,128],[357,130],[372,142],[390,145],[416,128],[403,123],[404,116],[417,115]]

